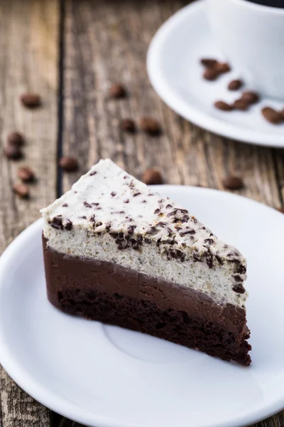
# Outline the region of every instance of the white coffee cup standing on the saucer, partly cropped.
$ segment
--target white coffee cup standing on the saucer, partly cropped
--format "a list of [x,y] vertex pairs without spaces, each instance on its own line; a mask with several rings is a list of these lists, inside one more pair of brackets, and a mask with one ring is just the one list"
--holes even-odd
[[231,68],[251,90],[284,100],[284,9],[247,0],[206,1],[214,37]]

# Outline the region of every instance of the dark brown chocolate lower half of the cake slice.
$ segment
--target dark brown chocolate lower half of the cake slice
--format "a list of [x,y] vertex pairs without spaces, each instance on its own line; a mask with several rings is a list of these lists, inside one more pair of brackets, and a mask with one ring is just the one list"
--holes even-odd
[[251,363],[241,307],[121,265],[58,253],[46,243],[43,238],[48,299],[60,310]]

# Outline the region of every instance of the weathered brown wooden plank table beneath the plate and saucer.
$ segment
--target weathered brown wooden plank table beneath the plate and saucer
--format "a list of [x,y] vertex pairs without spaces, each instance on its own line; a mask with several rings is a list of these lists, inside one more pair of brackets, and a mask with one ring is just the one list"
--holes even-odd
[[[0,251],[38,218],[41,207],[69,189],[101,157],[111,157],[138,178],[146,168],[158,166],[170,184],[223,189],[224,176],[239,174],[245,183],[240,194],[283,207],[283,151],[201,130],[166,107],[151,88],[145,67],[148,44],[161,23],[185,4],[186,0],[1,1],[1,144],[9,131],[23,132],[26,159],[16,163],[0,157]],[[129,89],[126,100],[107,100],[107,88],[116,81]],[[40,93],[43,107],[31,111],[21,106],[19,95],[28,90]],[[119,130],[122,117],[138,120],[144,115],[160,121],[162,136]],[[62,153],[79,159],[80,172],[62,174],[57,167]],[[32,166],[38,176],[29,201],[11,191],[21,164]],[[79,425],[50,413],[0,368],[0,426]],[[256,426],[284,426],[284,412]]]

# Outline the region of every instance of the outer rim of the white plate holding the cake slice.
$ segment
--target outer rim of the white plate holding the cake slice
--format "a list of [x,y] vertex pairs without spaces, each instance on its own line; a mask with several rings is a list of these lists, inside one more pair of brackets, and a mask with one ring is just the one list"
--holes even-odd
[[[270,211],[274,211],[274,214],[282,216],[280,212],[271,208],[270,206],[266,206],[261,202],[255,201],[253,199],[249,199],[246,196],[240,196],[239,194],[232,194],[227,191],[220,191],[217,189],[208,189],[202,187],[195,186],[183,186],[183,185],[172,185],[172,184],[164,184],[163,186],[151,186],[153,189],[168,189],[169,191],[195,191],[201,193],[218,193],[222,194],[225,197],[229,197],[229,199],[245,199],[246,202],[252,203],[261,207],[261,209],[268,209]],[[0,297],[1,297],[1,286],[3,285],[3,281],[1,280],[2,275],[5,273],[6,265],[9,263],[10,258],[13,256],[18,250],[18,246],[23,244],[23,242],[28,241],[30,238],[35,237],[35,233],[38,233],[42,229],[43,220],[39,218],[35,222],[33,222],[30,226],[28,226],[24,231],[22,231],[6,248],[4,253],[0,257]],[[1,317],[0,317],[1,320]],[[13,360],[13,354],[9,349],[9,344],[6,343],[6,339],[4,334],[1,332],[2,327],[0,324],[0,364],[5,369],[5,371],[11,376],[13,381],[21,386],[21,388],[26,391],[33,399],[40,402],[44,406],[50,408],[52,411],[59,413],[62,416],[67,418],[71,418],[78,423],[83,423],[87,426],[91,427],[131,427],[130,424],[122,424],[119,420],[117,420],[114,424],[114,421],[111,419],[107,419],[105,416],[96,416],[94,413],[88,413],[86,409],[80,408],[80,406],[74,406],[74,404],[70,404],[67,399],[62,398],[61,396],[57,396],[54,391],[50,391],[45,388],[44,384],[40,384],[37,379],[34,379],[33,375],[28,373],[26,369],[21,368],[21,364],[18,364],[16,359]],[[273,416],[275,413],[283,410],[284,408],[284,391],[283,396],[281,398],[275,399],[273,404],[265,406],[262,410],[254,410],[249,414],[245,414],[239,416],[239,418],[235,418],[231,421],[222,421],[222,423],[214,423],[210,424],[210,427],[245,427],[251,425],[251,423],[257,423],[269,416]],[[204,426],[205,427],[205,426]]]

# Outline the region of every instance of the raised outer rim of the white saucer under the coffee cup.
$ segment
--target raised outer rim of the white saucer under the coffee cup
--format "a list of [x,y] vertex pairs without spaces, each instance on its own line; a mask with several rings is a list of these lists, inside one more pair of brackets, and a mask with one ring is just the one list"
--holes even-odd
[[283,136],[273,135],[269,132],[264,133],[258,132],[257,130],[248,130],[241,127],[238,128],[231,123],[224,122],[221,118],[213,117],[207,113],[206,110],[202,110],[182,100],[175,90],[167,83],[163,70],[160,67],[160,49],[165,46],[164,43],[168,38],[168,34],[170,34],[181,21],[184,21],[186,18],[192,19],[196,14],[203,11],[205,1],[206,0],[197,0],[192,4],[182,7],[182,9],[170,16],[154,34],[147,52],[146,69],[155,93],[157,93],[168,107],[185,118],[185,120],[189,120],[215,135],[234,139],[235,141],[244,142],[246,144],[283,148]]

